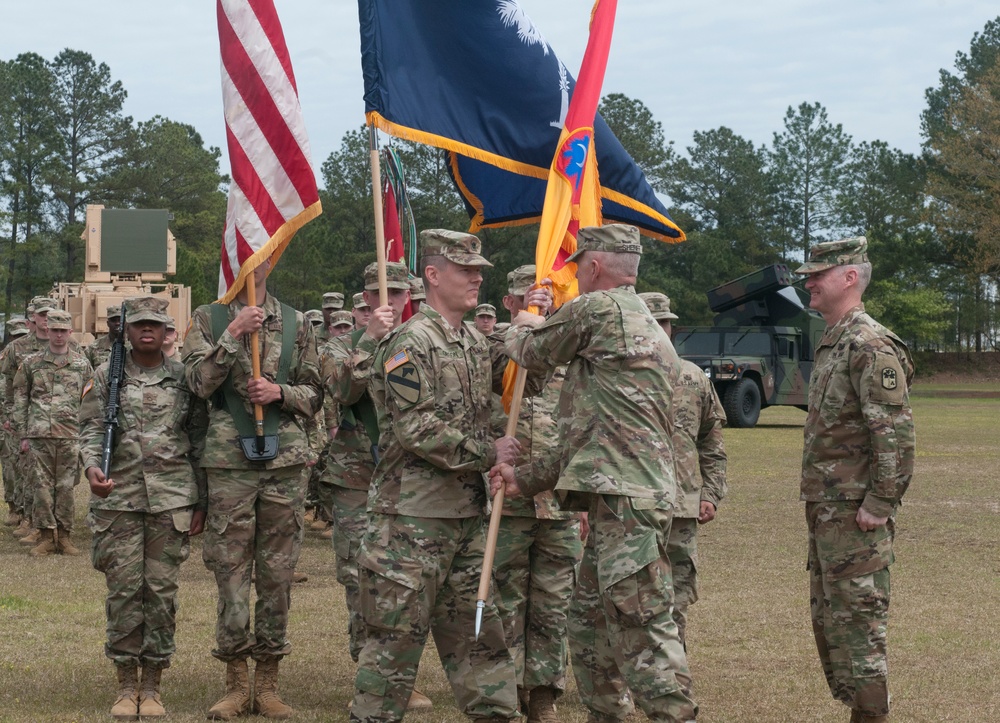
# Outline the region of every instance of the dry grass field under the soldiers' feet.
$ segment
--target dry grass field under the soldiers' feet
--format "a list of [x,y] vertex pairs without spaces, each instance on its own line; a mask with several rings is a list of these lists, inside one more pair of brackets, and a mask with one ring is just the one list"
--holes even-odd
[[[918,383],[917,473],[898,519],[889,665],[897,721],[1000,720],[1000,385]],[[984,394],[985,393],[985,394]],[[688,642],[699,720],[843,721],[813,647],[798,501],[804,413],[766,410],[726,430],[729,498],[702,528],[701,600]],[[77,488],[78,529],[86,496]],[[343,593],[327,542],[311,534],[293,591],[293,653],[282,691],[300,721],[342,721],[353,694]],[[81,545],[83,547],[83,545]],[[30,558],[0,531],[0,721],[105,721],[114,673],[103,655],[104,578],[86,556]],[[213,645],[215,585],[200,543],[184,565],[177,654],[164,673],[171,721],[204,720],[221,694]],[[466,720],[428,649],[419,686]],[[571,687],[564,721],[586,715]]]

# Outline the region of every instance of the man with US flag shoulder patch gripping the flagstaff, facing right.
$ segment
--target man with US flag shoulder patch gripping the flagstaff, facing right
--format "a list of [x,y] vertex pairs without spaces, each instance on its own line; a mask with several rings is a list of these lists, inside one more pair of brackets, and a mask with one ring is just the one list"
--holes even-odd
[[[490,398],[507,358],[472,324],[483,267],[475,236],[421,233],[427,303],[376,348],[354,350],[379,411],[380,459],[358,554],[367,641],[352,721],[401,720],[430,632],[459,708],[477,721],[516,718],[514,661],[492,600],[473,639],[485,549],[485,472],[519,445],[494,440]],[[374,323],[374,322],[373,322]],[[367,357],[367,358],[366,358]],[[537,392],[540,379],[532,378]]]

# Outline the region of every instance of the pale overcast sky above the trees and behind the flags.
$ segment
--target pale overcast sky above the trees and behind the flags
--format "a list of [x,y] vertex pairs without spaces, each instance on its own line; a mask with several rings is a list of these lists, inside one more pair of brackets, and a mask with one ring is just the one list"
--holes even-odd
[[[276,6],[318,169],[364,123],[357,3]],[[576,74],[591,0],[521,6]],[[679,148],[723,125],[769,144],[789,105],[818,101],[855,141],[916,153],[924,91],[998,14],[981,0],[620,0],[604,93],[642,100]],[[3,29],[3,59],[89,52],[124,84],[129,115],[190,123],[225,153],[212,0],[7,3]]]

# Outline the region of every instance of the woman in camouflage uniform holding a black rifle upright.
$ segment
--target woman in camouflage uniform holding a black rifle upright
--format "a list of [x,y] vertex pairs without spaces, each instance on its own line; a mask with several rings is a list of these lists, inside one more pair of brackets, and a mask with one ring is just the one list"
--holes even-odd
[[111,715],[156,718],[166,715],[160,677],[175,650],[180,566],[191,551],[188,536],[200,534],[205,523],[208,497],[198,459],[208,411],[184,381],[184,365],[162,352],[169,302],[149,296],[126,303],[131,350],[110,476],[101,471],[107,365],[84,392],[80,457],[93,493],[91,561],[108,586],[104,654],[118,675]]

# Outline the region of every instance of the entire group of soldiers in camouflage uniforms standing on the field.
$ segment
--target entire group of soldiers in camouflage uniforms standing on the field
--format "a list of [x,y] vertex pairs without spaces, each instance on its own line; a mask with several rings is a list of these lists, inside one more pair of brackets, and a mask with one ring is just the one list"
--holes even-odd
[[[479,303],[491,264],[477,237],[420,239],[420,278],[387,264],[382,304],[372,264],[349,312],[338,292],[322,310],[282,304],[265,262],[248,280],[256,304],[244,289],[195,311],[182,358],[155,297],[128,300],[124,319],[109,308],[108,335],[85,351],[52,299],[8,322],[8,524],[33,555],[80,554],[72,492],[84,473],[91,558],[108,586],[115,718],[166,714],[178,571],[202,532],[219,599],[212,655],[226,667],[208,717],[290,717],[279,667],[311,524],[331,539],[345,591],[352,721],[433,705],[413,687],[431,633],[458,707],[476,721],[558,721],[570,660],[591,721],[622,721],[635,706],[654,721],[696,719],[685,630],[698,526],[726,495],[724,415],[704,373],[673,349],[670,300],[635,293],[638,231],[581,229],[571,259],[581,295],[559,309],[534,266],[510,271],[509,324]],[[829,325],[803,460],[813,625],[834,697],[852,721],[881,721],[888,566],[913,464],[912,362],[860,305],[863,238],[820,244],[800,273]],[[119,335],[128,352],[105,475],[107,359]],[[508,436],[511,361],[527,374]],[[485,520],[501,487],[494,584],[473,635]]]

